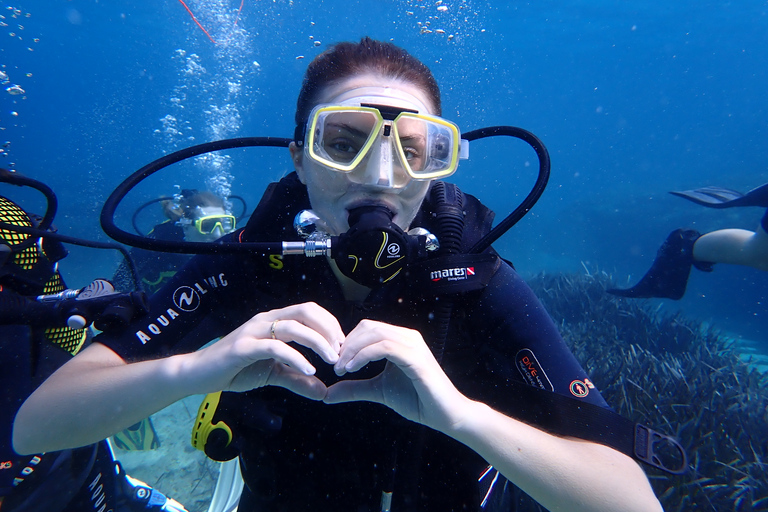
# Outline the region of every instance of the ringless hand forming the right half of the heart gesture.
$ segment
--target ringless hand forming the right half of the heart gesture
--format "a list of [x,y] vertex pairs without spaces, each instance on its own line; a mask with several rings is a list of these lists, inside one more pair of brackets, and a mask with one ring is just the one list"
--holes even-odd
[[378,376],[338,382],[323,401],[377,402],[442,432],[463,420],[470,400],[454,387],[416,330],[363,320],[344,340],[334,369],[344,375],[380,359],[387,365]]

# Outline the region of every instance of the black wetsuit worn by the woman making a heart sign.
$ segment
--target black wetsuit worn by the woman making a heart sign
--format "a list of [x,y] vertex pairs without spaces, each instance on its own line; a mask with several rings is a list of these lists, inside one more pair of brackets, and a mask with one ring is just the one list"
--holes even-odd
[[[492,214],[465,196],[469,247],[490,227]],[[294,215],[309,208],[295,174],[272,184],[248,225],[230,240],[296,240]],[[413,226],[434,232],[429,198]],[[492,252],[492,251],[491,251]],[[150,319],[121,337],[97,341],[128,361],[189,352],[223,336],[254,314],[315,301],[349,332],[372,318],[419,329],[429,341],[440,301],[424,297],[399,279],[363,302],[344,299],[325,258],[275,255],[197,256],[151,299]],[[488,286],[454,300],[442,366],[471,398],[518,416],[510,381],[527,382],[607,407],[530,288],[499,260]],[[330,385],[330,365],[303,349]],[[344,378],[376,375],[382,362]],[[243,512],[380,510],[381,491],[392,483],[392,510],[477,510],[478,477],[487,464],[447,436],[402,419],[373,403],[325,405],[282,388],[224,393],[236,427],[248,489]],[[535,463],[535,461],[532,461]]]

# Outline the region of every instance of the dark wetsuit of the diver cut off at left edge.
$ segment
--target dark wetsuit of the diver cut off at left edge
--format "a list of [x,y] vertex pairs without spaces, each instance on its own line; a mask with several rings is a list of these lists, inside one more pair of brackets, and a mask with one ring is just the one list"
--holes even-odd
[[[64,288],[58,276],[53,293]],[[0,511],[82,512],[145,510],[105,441],[36,455],[12,448],[13,421],[21,404],[85,341],[86,330],[70,329],[50,304],[0,285]],[[104,508],[102,508],[104,507]]]

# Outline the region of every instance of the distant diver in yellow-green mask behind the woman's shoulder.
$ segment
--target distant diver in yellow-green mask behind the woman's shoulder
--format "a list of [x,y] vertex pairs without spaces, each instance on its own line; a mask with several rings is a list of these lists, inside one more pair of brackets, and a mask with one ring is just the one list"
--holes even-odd
[[[168,219],[156,225],[146,235],[156,240],[213,242],[235,230],[237,220],[227,213],[224,200],[206,190],[184,189],[178,198],[161,200],[164,216]],[[133,248],[130,251],[141,279],[141,287],[154,293],[178,269],[189,261],[185,254],[171,254]],[[125,263],[115,272],[112,281],[121,291],[130,290],[132,281]]]

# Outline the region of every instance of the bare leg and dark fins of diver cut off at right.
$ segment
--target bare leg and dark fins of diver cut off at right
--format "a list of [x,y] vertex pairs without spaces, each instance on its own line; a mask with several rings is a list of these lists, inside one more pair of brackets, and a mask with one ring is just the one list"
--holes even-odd
[[[709,208],[768,207],[768,183],[746,194],[721,187],[670,192]],[[768,210],[755,231],[719,229],[701,234],[676,229],[659,248],[651,268],[635,286],[608,293],[630,298],[678,300],[685,294],[691,266],[712,272],[715,263],[744,265],[768,271]]]

